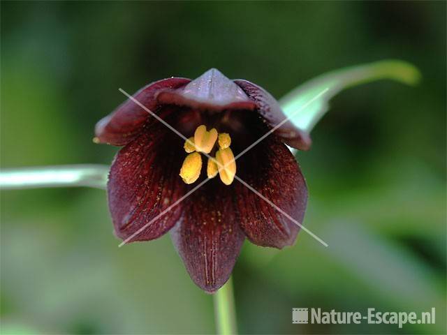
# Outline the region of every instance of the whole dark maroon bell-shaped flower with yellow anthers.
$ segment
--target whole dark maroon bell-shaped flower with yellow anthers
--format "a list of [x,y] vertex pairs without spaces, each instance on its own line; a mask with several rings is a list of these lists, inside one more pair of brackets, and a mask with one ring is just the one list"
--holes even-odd
[[[187,140],[131,100],[96,124],[95,142],[124,146],[108,181],[117,237],[149,241],[170,231],[191,278],[206,292],[228,280],[246,237],[258,246],[294,243],[298,225],[234,181],[237,171],[302,222],[307,187],[285,144],[309,149],[307,133],[286,122],[237,162],[233,159],[286,118],[267,91],[247,80],[229,80],[212,68],[196,80],[153,82],[133,97]],[[212,179],[166,211],[205,175]]]

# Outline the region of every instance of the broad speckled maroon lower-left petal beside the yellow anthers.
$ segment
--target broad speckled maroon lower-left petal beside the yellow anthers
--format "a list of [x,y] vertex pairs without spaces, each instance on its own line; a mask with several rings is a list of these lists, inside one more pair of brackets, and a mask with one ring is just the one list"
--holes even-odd
[[[131,237],[184,194],[179,178],[182,140],[164,126],[144,131],[122,148],[112,163],[108,181],[108,202],[115,233],[121,239]],[[182,203],[129,241],[156,239],[177,222]]]

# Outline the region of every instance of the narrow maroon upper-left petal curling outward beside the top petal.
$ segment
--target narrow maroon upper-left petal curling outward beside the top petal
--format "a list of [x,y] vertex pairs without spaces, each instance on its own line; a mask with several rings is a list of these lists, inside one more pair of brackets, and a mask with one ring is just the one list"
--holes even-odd
[[[153,82],[140,89],[133,97],[152,112],[156,112],[156,94],[161,89],[177,89],[191,80],[169,78]],[[142,107],[128,99],[115,112],[96,124],[95,134],[100,143],[126,145],[137,137],[150,115]]]

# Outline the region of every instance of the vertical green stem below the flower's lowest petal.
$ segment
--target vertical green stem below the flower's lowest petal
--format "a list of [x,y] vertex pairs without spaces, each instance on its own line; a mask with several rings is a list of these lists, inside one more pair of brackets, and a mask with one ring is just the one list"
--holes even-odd
[[216,293],[214,293],[214,315],[217,334],[237,334],[235,301],[233,297],[233,281],[230,277]]

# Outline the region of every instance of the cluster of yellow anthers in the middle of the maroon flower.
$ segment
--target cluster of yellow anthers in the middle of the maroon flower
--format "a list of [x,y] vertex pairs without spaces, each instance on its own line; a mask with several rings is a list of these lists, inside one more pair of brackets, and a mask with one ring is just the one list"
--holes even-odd
[[[214,149],[214,144],[218,144],[219,149],[215,151],[215,157],[210,156]],[[214,178],[219,173],[223,184],[233,183],[236,174],[236,162],[233,151],[230,149],[231,137],[227,133],[217,133],[215,128],[207,131],[206,126],[198,126],[194,136],[189,137],[184,142],[184,150],[189,155],[184,158],[180,177],[186,184],[192,184],[200,176],[202,170],[203,152],[208,157],[207,176]]]

